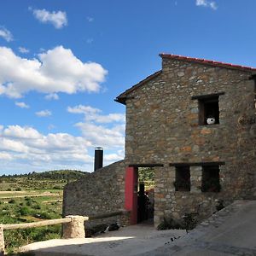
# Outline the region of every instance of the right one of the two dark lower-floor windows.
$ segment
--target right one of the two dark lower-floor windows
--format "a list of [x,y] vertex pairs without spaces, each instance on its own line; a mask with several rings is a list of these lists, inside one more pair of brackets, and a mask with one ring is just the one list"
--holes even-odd
[[219,166],[202,166],[202,192],[219,192]]

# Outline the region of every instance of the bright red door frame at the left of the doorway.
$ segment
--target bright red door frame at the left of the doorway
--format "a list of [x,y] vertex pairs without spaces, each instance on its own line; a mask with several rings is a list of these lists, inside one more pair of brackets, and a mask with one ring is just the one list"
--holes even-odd
[[131,211],[131,224],[137,224],[137,168],[125,169],[125,210]]

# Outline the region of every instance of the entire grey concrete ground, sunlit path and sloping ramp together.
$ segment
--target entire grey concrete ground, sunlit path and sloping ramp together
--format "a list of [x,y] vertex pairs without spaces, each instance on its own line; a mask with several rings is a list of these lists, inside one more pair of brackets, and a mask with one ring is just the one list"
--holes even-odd
[[142,224],[97,238],[42,241],[25,248],[37,256],[256,256],[256,201],[236,201],[188,235]]

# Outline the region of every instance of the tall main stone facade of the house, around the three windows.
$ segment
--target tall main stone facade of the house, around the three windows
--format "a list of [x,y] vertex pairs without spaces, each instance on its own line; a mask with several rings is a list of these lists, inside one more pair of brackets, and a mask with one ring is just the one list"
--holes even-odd
[[[252,73],[163,58],[162,73],[132,90],[126,99],[127,164],[155,168],[155,224],[166,215],[210,215],[225,204],[255,198],[256,132]],[[199,125],[198,100],[219,96],[219,124]],[[190,166],[191,190],[175,191],[173,163],[224,162],[219,193],[201,192],[201,166]]]

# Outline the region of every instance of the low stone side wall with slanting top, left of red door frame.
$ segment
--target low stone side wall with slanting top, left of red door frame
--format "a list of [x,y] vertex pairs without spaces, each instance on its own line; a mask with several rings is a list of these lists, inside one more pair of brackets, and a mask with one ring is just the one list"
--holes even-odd
[[[94,216],[116,212],[125,206],[125,164],[116,162],[64,188],[63,215]],[[122,217],[124,224],[125,219]],[[120,217],[86,221],[85,227],[120,222]]]

